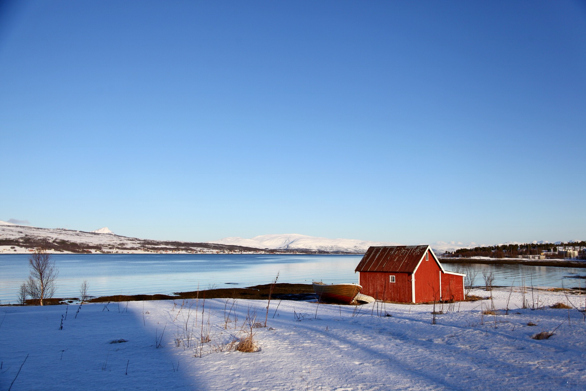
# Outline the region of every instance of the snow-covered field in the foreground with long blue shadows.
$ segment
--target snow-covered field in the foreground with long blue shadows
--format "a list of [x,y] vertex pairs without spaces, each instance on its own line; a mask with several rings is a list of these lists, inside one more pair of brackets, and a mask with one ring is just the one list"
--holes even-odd
[[[584,390],[582,312],[547,306],[584,308],[585,296],[527,293],[545,306],[531,310],[513,292],[505,315],[509,292],[493,295],[496,315],[481,314],[490,300],[462,302],[444,305],[435,325],[431,305],[272,301],[251,353],[226,349],[244,335],[247,312],[264,322],[266,301],[230,301],[224,311],[225,300],[206,300],[203,317],[202,300],[84,304],[78,313],[1,307],[0,390],[27,355],[12,390]],[[110,343],[118,339],[127,342]]]

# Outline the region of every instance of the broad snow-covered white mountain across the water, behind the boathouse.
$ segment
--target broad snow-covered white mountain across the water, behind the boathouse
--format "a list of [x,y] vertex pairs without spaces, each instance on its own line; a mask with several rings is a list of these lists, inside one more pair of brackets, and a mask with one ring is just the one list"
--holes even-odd
[[208,243],[231,244],[233,246],[255,247],[271,250],[318,250],[345,253],[364,253],[370,246],[393,246],[398,243],[369,242],[358,239],[328,239],[298,233],[268,234],[251,239],[242,237],[224,237]]

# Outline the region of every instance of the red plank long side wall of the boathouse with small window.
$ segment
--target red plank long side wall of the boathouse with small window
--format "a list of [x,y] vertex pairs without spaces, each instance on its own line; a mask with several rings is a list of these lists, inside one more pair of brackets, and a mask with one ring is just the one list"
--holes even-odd
[[[389,277],[395,276],[390,283]],[[411,302],[411,273],[379,273],[376,271],[360,272],[360,293],[372,296],[376,300]]]

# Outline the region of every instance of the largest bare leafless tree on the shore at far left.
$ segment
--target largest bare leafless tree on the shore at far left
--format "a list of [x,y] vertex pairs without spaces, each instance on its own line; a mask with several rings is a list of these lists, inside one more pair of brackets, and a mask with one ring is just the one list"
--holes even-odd
[[29,258],[30,275],[26,281],[27,293],[33,299],[39,299],[40,305],[43,300],[52,298],[55,293],[55,280],[59,271],[55,262],[51,260],[51,254],[43,249],[35,250]]

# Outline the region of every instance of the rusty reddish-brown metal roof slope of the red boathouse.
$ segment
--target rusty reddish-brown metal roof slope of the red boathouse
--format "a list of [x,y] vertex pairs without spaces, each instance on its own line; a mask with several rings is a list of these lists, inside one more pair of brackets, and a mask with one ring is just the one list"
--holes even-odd
[[355,271],[413,273],[425,255],[424,246],[372,246],[360,260]]

